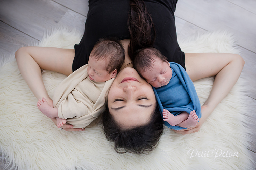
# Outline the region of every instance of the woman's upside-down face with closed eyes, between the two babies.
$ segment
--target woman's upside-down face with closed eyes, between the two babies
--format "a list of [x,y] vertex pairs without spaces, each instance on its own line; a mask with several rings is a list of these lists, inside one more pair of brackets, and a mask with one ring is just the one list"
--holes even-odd
[[109,90],[108,107],[119,125],[131,128],[148,123],[155,105],[151,85],[135,69],[127,67],[117,74]]

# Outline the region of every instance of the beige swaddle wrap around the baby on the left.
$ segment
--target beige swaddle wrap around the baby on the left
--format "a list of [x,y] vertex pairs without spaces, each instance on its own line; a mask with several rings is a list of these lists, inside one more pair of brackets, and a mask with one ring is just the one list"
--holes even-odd
[[103,83],[89,79],[88,64],[64,79],[53,95],[53,106],[59,118],[74,128],[85,128],[105,110],[105,101],[114,79]]

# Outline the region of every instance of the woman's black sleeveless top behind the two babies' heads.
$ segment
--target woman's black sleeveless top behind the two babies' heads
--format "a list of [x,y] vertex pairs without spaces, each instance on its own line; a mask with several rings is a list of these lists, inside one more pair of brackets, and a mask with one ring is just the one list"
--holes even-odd
[[[185,69],[185,54],[177,42],[174,21],[177,0],[144,2],[156,30],[153,47],[166,56],[169,62],[179,63]],[[80,43],[75,45],[73,71],[88,63],[90,52],[100,38],[130,38],[127,26],[129,10],[129,0],[89,0],[84,35]]]

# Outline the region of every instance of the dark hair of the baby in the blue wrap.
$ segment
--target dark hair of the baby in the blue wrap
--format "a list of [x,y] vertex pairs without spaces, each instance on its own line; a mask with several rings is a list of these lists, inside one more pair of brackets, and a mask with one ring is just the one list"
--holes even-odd
[[135,52],[133,68],[137,70],[141,77],[143,77],[141,75],[142,73],[147,69],[152,69],[152,64],[154,63],[155,58],[159,58],[163,62],[168,62],[167,58],[156,48],[150,47],[139,49]]

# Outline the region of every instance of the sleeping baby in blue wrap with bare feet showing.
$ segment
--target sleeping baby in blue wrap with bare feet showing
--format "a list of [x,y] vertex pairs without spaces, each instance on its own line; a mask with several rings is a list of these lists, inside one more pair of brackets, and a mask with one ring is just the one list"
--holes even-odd
[[137,51],[133,67],[153,86],[168,128],[196,126],[201,118],[201,104],[193,82],[181,65],[168,62],[155,48],[146,48]]

